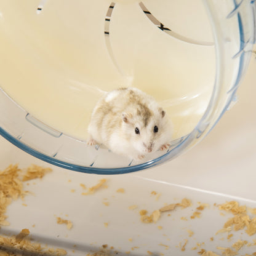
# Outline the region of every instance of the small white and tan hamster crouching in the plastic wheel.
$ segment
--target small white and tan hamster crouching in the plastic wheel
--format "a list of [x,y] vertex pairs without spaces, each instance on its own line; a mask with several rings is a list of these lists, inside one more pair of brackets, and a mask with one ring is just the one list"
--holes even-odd
[[88,126],[88,145],[103,144],[130,159],[170,146],[172,127],[156,100],[137,88],[106,93],[95,105]]

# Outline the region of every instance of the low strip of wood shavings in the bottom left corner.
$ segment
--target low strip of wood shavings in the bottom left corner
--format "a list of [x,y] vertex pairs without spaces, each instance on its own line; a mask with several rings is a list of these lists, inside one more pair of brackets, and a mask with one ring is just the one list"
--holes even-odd
[[64,249],[46,249],[41,246],[41,244],[36,242],[31,242],[28,235],[30,231],[28,229],[23,229],[16,236],[5,237],[0,236],[0,255],[1,256],[17,256],[23,254],[37,254],[37,255],[66,255],[66,250]]

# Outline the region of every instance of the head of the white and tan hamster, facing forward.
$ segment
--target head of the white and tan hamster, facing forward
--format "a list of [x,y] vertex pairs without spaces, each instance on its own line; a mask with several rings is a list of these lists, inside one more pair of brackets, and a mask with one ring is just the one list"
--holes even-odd
[[122,113],[122,122],[124,136],[141,154],[156,152],[162,145],[170,143],[170,121],[160,107],[148,113],[138,109],[134,113]]

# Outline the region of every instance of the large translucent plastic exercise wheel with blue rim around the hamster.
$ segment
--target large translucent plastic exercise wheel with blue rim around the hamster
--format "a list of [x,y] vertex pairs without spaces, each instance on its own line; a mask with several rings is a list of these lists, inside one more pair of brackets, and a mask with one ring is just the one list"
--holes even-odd
[[[0,133],[97,174],[145,169],[199,142],[234,99],[255,41],[254,1],[1,1],[0,12]],[[169,150],[135,162],[87,146],[92,108],[120,86],[166,109]]]

